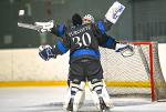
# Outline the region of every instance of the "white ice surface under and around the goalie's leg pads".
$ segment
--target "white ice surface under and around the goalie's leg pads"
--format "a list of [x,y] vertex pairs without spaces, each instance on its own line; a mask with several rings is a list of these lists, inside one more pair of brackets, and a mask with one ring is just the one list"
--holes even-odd
[[[66,88],[0,88],[0,112],[64,112]],[[89,89],[80,112],[97,112]],[[112,99],[111,112],[166,112],[166,102],[147,99]]]

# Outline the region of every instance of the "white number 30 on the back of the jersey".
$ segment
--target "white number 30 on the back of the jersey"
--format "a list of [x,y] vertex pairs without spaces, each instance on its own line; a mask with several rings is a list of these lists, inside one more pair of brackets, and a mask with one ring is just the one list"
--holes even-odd
[[81,47],[90,47],[91,44],[91,35],[90,33],[85,32],[81,37],[74,37],[73,42]]

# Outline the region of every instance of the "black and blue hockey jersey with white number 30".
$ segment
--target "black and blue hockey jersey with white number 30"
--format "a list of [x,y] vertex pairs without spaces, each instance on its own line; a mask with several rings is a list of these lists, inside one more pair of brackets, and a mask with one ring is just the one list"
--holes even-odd
[[56,41],[54,52],[63,54],[70,50],[71,61],[84,58],[100,60],[98,47],[113,49],[116,43],[105,33],[104,26],[100,22],[97,26],[93,23],[76,27],[58,26],[54,31],[54,34],[63,35],[63,39]]

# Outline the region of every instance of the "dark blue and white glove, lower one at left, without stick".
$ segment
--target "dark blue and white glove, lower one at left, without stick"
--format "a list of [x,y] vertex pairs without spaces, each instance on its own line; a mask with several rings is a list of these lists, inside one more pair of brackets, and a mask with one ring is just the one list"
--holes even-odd
[[53,54],[53,50],[50,45],[40,45],[39,55],[45,61],[49,61],[51,58],[56,58],[56,55]]

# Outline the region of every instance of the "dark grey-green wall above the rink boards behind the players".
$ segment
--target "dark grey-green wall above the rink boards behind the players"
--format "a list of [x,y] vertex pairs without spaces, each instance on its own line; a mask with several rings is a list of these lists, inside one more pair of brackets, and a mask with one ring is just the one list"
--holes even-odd
[[[18,12],[25,10],[22,21],[71,21],[73,13],[103,19],[115,0],[0,0],[0,49],[37,48],[54,43],[52,34],[18,28]],[[121,41],[166,42],[166,0],[118,0],[126,9],[108,34]]]

